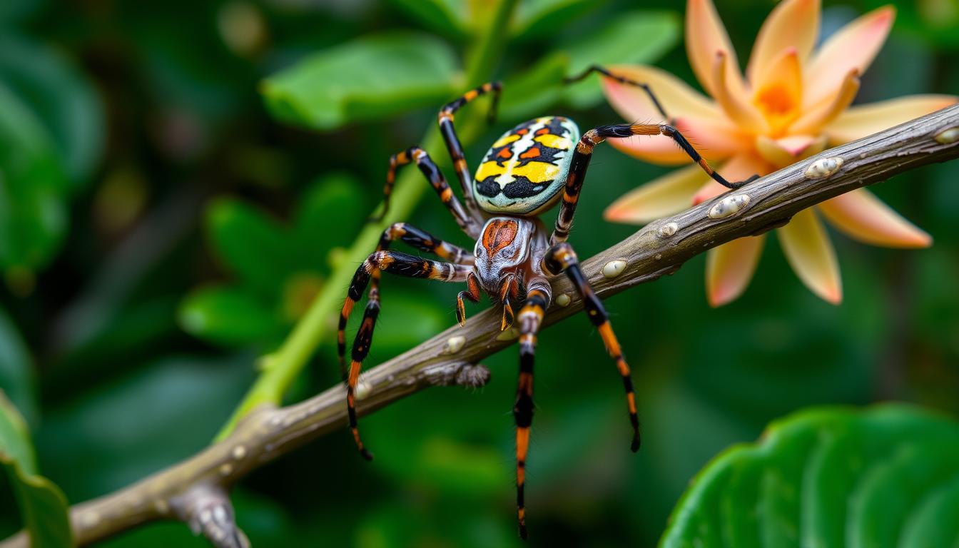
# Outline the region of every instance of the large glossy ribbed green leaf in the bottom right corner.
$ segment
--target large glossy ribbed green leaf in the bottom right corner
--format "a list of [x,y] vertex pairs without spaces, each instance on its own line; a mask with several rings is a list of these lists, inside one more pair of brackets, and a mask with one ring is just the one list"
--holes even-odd
[[660,546],[945,546],[930,539],[959,534],[957,461],[959,423],[946,417],[800,412],[707,465]]

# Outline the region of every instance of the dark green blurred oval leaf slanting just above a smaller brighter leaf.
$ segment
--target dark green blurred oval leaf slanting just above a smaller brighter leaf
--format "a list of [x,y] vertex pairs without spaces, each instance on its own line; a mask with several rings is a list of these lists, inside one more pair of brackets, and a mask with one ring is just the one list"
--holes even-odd
[[263,296],[275,297],[299,263],[285,226],[256,207],[222,198],[210,204],[207,233],[224,266]]

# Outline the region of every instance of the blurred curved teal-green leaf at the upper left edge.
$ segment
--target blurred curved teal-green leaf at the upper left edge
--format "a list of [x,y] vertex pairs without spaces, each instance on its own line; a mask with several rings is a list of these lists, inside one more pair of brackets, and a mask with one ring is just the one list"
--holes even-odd
[[0,37],[0,82],[32,107],[74,187],[89,179],[103,154],[104,107],[82,73],[49,47],[8,34]]

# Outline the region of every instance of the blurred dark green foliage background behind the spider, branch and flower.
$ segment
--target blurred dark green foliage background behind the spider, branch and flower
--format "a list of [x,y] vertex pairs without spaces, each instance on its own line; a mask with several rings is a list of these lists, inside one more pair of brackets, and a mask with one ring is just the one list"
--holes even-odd
[[[824,30],[878,3],[827,1]],[[210,441],[253,382],[256,356],[316,295],[344,295],[325,282],[353,261],[343,250],[379,201],[388,156],[431,130],[465,83],[485,4],[0,3],[0,388],[34,432],[30,470],[75,503]],[[858,100],[959,93],[955,0],[896,4]],[[771,3],[718,5],[744,59]],[[494,36],[503,104],[467,143],[471,165],[533,115],[619,122],[595,79],[559,85],[590,63],[655,62],[693,82],[679,8],[521,0]],[[665,172],[597,151],[571,240],[579,254],[631,233],[602,209]],[[706,304],[701,257],[611,298],[641,402],[638,455],[590,323],[544,332],[526,493],[535,541],[651,545],[714,455],[810,405],[898,399],[959,413],[957,178],[953,162],[877,186],[936,244],[878,250],[836,237],[841,306],[808,294],[777,252],[721,309]],[[470,247],[424,196],[409,221]],[[369,364],[455,322],[459,289],[387,278]],[[434,389],[364,418],[372,464],[344,432],[248,477],[233,498],[253,544],[519,545],[515,350],[486,365],[493,382],[481,391]],[[338,381],[331,340],[287,397]],[[0,486],[0,535],[24,523],[13,492]],[[946,515],[937,505],[950,496],[930,500],[924,519]],[[105,545],[205,542],[153,524]]]

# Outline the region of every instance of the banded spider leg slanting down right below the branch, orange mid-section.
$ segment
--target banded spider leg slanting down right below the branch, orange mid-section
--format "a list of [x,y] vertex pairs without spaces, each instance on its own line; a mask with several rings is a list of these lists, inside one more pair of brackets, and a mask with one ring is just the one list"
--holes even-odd
[[579,261],[576,259],[576,253],[569,244],[562,243],[550,248],[546,254],[546,258],[543,259],[543,267],[544,270],[550,274],[565,272],[576,287],[576,291],[579,292],[579,296],[583,298],[583,308],[590,317],[590,322],[596,325],[596,330],[599,331],[599,336],[602,337],[602,342],[606,345],[606,351],[609,352],[609,356],[613,358],[613,361],[616,362],[617,369],[620,370],[622,386],[626,391],[626,406],[629,410],[629,421],[633,425],[633,442],[630,448],[634,453],[639,451],[640,418],[636,411],[636,393],[633,391],[633,379],[629,376],[629,365],[626,364],[626,359],[622,357],[620,342],[613,332],[613,326],[609,322],[609,317],[606,315],[606,310],[603,308],[602,302],[596,297],[596,292],[593,291],[590,283],[586,281],[583,273],[579,270]]

